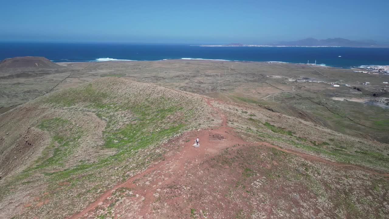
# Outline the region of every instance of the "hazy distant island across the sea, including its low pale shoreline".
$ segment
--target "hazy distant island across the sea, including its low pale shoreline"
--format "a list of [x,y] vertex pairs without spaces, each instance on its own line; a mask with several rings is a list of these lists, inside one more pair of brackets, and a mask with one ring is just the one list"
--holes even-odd
[[352,41],[343,38],[314,39],[307,38],[298,41],[283,41],[268,45],[252,45],[230,43],[225,45],[201,45],[206,47],[249,46],[249,47],[359,47],[359,48],[389,48],[389,44],[379,44],[375,41]]

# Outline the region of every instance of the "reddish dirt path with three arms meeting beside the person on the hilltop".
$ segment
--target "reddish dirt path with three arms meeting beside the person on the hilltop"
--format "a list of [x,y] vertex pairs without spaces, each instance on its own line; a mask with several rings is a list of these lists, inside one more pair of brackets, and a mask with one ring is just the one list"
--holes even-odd
[[[215,155],[223,151],[225,148],[232,147],[234,145],[262,145],[265,147],[276,148],[277,150],[289,154],[298,155],[309,161],[323,162],[342,168],[359,169],[371,174],[389,177],[389,173],[378,173],[362,166],[331,162],[319,157],[315,157],[313,155],[308,155],[293,150],[287,150],[265,142],[249,143],[247,141],[244,141],[239,136],[237,136],[235,132],[233,132],[232,128],[226,127],[226,116],[221,112],[220,109],[214,107],[211,104],[211,101],[219,100],[204,98],[204,101],[207,102],[207,104],[212,109],[215,109],[215,111],[217,111],[219,116],[222,118],[223,122],[221,124],[221,127],[216,127],[214,129],[205,129],[202,131],[191,131],[185,133],[182,136],[174,138],[167,145],[163,146],[170,147],[171,145],[183,144],[183,147],[180,147],[177,152],[173,152],[172,156],[166,157],[164,161],[154,163],[154,166],[151,166],[144,172],[139,173],[131,178],[128,178],[126,182],[114,186],[112,189],[102,194],[102,196],[100,196],[96,201],[91,203],[87,208],[77,214],[72,215],[71,217],[69,217],[69,219],[93,217],[93,214],[95,214],[95,208],[100,206],[107,207],[110,205],[110,203],[112,203],[112,200],[109,200],[109,198],[112,193],[114,193],[119,188],[130,188],[138,193],[136,197],[133,196],[134,199],[137,199],[137,202],[121,203],[121,209],[123,213],[126,213],[126,215],[130,218],[148,218],[147,215],[152,214],[151,205],[156,200],[156,197],[159,196],[158,187],[169,185],[171,183],[174,183],[175,180],[177,180],[178,178],[185,177],[189,168],[198,166],[198,164],[200,164],[200,162],[204,161],[205,159],[214,157]],[[200,139],[200,148],[192,147],[193,141],[182,141],[186,139],[195,140],[196,137]],[[147,181],[148,183],[146,184],[137,184],[137,180],[143,177],[149,177],[148,179],[150,179],[150,182]],[[130,208],[132,210],[126,209],[126,205],[131,205]],[[119,209],[120,207],[118,207],[118,210]],[[94,216],[96,217],[96,215]]]

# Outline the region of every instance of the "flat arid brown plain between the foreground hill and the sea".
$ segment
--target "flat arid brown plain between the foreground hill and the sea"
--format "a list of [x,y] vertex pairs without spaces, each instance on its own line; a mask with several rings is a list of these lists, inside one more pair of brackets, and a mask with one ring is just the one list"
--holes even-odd
[[[163,60],[58,64],[64,68],[1,71],[0,112],[48,92],[116,76],[224,101],[259,104],[344,134],[389,142],[389,108],[377,102],[389,98],[386,91],[389,87],[382,83],[389,76],[382,74],[275,62]],[[370,84],[363,85],[366,81]],[[331,87],[331,82],[340,87]],[[338,101],[334,97],[371,101]]]

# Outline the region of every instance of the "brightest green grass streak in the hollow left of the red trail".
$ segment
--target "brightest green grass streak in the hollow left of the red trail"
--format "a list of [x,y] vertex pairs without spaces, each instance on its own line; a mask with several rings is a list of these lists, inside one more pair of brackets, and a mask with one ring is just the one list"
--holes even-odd
[[[179,106],[161,108],[154,111],[152,108],[145,107],[143,111],[138,110],[138,106],[133,106],[133,111],[140,115],[136,117],[130,124],[124,125],[122,128],[110,131],[110,125],[107,124],[104,131],[105,143],[103,147],[116,149],[117,152],[108,157],[102,158],[97,162],[89,164],[79,164],[74,168],[53,173],[52,177],[55,180],[69,178],[75,174],[86,173],[93,170],[109,166],[117,166],[132,157],[136,156],[137,150],[147,148],[151,145],[157,145],[158,142],[163,142],[167,138],[179,133],[186,127],[186,124],[176,123],[175,121],[165,121],[166,117],[175,115],[179,111]],[[186,117],[190,117],[190,111]],[[109,120],[108,123],[114,122]],[[152,154],[151,157],[156,157]],[[140,165],[146,165],[140,161]],[[136,167],[134,167],[136,168]]]

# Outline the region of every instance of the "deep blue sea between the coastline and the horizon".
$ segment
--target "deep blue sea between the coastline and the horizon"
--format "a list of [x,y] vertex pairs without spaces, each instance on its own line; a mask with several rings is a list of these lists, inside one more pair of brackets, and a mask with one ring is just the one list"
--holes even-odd
[[180,58],[229,61],[314,63],[349,68],[389,65],[389,48],[347,47],[200,47],[168,44],[82,44],[0,42],[0,60],[17,56],[42,56],[53,62],[104,60],[163,60]]

